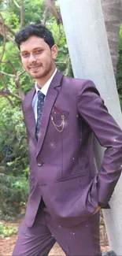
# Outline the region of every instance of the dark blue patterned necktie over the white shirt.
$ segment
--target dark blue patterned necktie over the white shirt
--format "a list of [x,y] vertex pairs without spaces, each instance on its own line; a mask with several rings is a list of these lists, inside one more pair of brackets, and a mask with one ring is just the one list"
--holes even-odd
[[37,93],[38,102],[37,102],[37,122],[35,127],[35,138],[38,139],[39,135],[39,129],[40,129],[40,121],[41,121],[41,115],[43,112],[43,105],[44,105],[44,98],[45,95],[43,95],[42,91],[38,91]]

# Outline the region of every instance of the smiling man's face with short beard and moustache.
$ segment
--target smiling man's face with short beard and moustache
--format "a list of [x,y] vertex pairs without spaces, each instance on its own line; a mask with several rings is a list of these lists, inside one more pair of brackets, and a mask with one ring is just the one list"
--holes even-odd
[[42,38],[31,36],[20,44],[20,56],[24,69],[35,79],[41,79],[54,70],[57,46],[50,49]]

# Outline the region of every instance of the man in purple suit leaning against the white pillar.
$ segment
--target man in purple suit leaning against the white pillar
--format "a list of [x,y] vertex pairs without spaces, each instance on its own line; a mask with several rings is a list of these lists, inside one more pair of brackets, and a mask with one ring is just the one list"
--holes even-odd
[[[30,24],[16,35],[35,87],[23,102],[30,150],[30,194],[13,255],[47,255],[57,241],[66,255],[100,256],[99,210],[122,169],[122,132],[91,80],[57,71],[49,30]],[[93,137],[105,147],[94,165]]]

